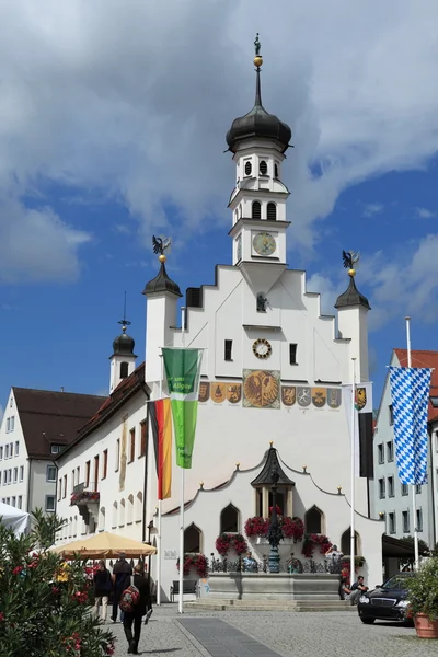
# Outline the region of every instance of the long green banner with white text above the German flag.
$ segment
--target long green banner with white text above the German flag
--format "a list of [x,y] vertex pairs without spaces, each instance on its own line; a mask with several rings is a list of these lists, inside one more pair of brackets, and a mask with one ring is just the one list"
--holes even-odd
[[172,405],[176,465],[189,469],[195,445],[203,350],[163,348],[162,354]]

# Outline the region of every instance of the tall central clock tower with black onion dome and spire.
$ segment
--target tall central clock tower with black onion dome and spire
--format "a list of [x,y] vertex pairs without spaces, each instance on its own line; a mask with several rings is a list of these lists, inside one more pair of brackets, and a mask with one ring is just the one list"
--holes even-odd
[[233,153],[237,184],[230,196],[233,265],[238,266],[255,297],[265,296],[286,269],[286,200],[281,163],[292,131],[262,103],[261,43],[255,37],[255,101],[235,118],[227,132]]

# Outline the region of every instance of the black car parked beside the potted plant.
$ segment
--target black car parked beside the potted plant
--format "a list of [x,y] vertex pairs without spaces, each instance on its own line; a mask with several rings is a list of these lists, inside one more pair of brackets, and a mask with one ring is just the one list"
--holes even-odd
[[406,579],[414,573],[399,573],[372,591],[360,596],[357,604],[362,623],[376,620],[412,622],[408,616]]

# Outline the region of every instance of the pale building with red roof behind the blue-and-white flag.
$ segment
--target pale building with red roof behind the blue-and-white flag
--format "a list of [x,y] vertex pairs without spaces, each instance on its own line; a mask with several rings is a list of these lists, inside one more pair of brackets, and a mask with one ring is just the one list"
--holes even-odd
[[[394,349],[391,366],[407,367],[406,349]],[[393,430],[392,397],[387,374],[373,437],[374,480],[372,516],[382,515],[387,534],[394,538],[413,535],[434,546],[438,540],[438,351],[412,351],[412,367],[433,368],[429,396],[428,484],[416,486],[416,518],[413,518],[412,486],[399,480]]]

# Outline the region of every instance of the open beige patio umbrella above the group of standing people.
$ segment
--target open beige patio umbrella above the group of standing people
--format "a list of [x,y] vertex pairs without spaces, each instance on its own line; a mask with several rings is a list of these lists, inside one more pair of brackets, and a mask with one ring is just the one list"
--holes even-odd
[[108,531],[103,531],[92,535],[90,539],[80,539],[67,545],[57,545],[51,550],[57,554],[62,554],[66,558],[80,554],[83,558],[113,558],[120,555],[139,557],[155,554],[157,549],[152,545],[119,537]]

